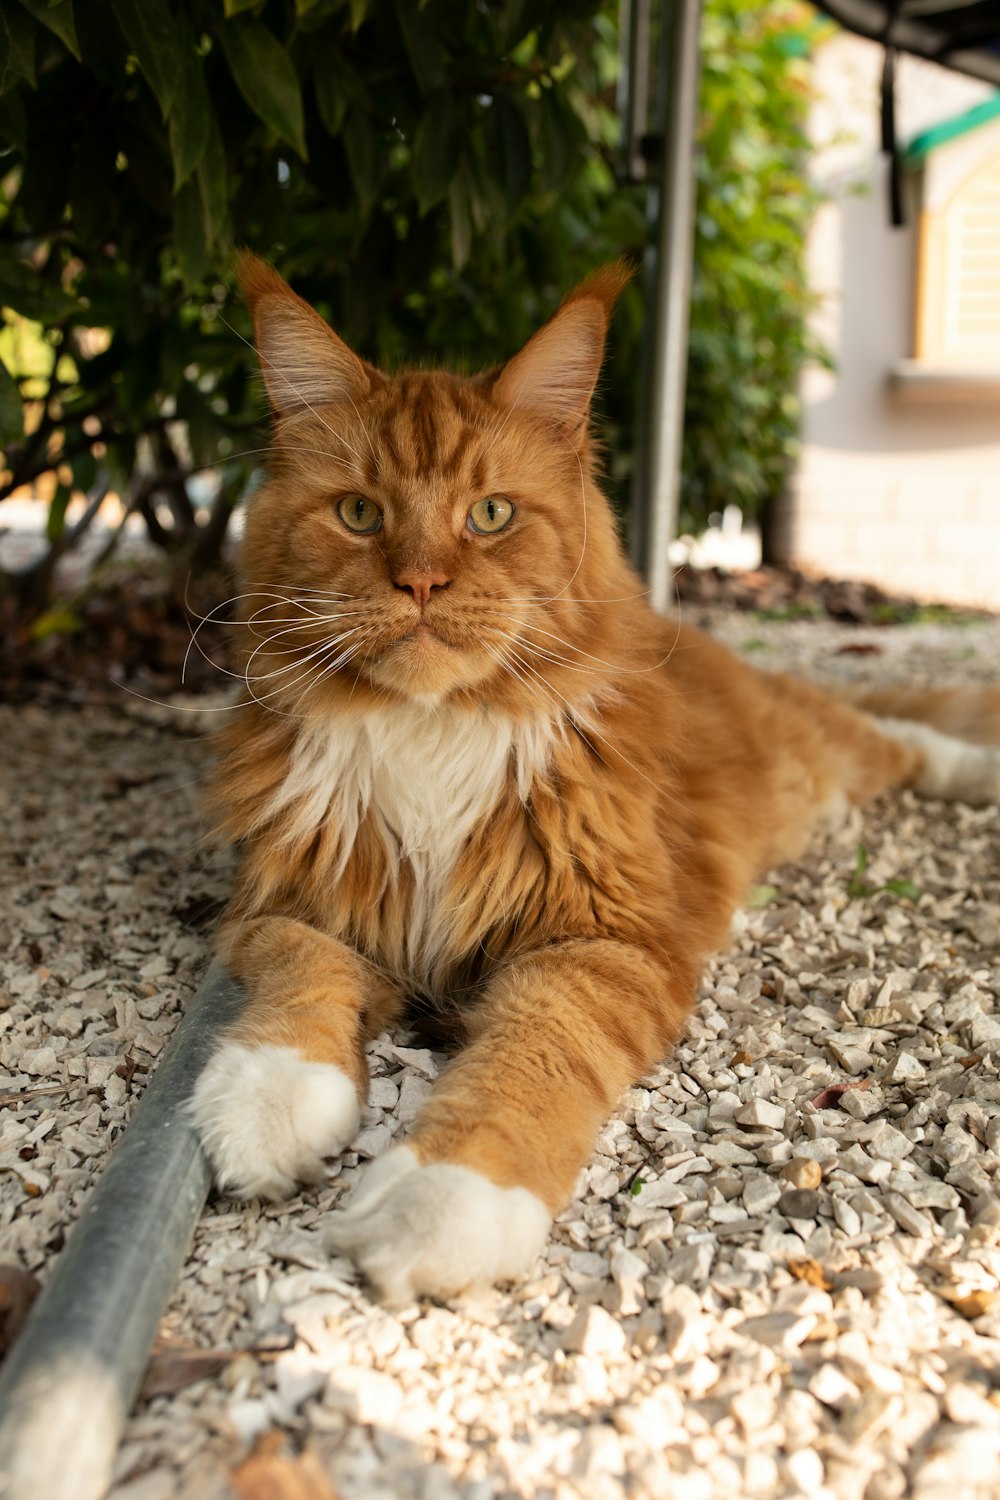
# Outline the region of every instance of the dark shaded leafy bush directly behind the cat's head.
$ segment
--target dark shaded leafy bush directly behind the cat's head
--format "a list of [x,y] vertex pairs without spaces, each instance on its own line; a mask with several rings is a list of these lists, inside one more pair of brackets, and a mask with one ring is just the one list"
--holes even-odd
[[[513,352],[643,234],[610,166],[606,10],[6,4],[0,352],[19,378],[0,375],[0,498],[54,472],[58,548],[70,492],[109,486],[163,549],[214,556],[262,442],[234,242],[379,363]],[[637,314],[622,327],[634,340]],[[219,462],[214,492],[192,483]],[[43,596],[49,572],[21,591]]]

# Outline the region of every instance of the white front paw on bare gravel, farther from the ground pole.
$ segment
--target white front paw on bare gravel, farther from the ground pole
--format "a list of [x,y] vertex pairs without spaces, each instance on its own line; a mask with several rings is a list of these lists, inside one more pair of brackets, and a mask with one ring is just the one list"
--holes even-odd
[[552,1218],[528,1188],[450,1162],[421,1167],[394,1146],[366,1172],[325,1239],[352,1256],[385,1302],[450,1298],[531,1268]]

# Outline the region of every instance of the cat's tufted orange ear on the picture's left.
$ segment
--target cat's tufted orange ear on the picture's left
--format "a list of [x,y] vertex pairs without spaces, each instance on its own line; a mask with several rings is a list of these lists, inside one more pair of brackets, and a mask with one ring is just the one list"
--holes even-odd
[[237,279],[253,316],[264,386],[279,416],[367,394],[376,372],[271,266],[243,250]]

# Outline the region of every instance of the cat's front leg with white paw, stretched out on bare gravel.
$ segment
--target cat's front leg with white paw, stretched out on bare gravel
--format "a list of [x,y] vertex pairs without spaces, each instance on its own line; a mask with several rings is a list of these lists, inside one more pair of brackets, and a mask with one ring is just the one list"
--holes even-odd
[[390,1302],[523,1275],[618,1095],[676,1038],[691,976],[613,940],[513,963],[405,1146],[381,1156],[330,1239]]

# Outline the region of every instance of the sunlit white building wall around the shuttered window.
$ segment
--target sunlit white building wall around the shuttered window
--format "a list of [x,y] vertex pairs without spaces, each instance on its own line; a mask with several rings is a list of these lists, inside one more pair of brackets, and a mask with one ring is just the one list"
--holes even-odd
[[[889,386],[915,348],[918,206],[907,202],[904,228],[891,226],[880,72],[882,48],[861,38],[838,36],[817,56],[814,177],[828,201],[808,264],[822,297],[816,330],[837,368],[811,369],[804,381],[786,546],[792,561],[831,574],[1000,608],[1000,386],[972,402],[957,390],[924,392],[918,402]],[[900,58],[900,140],[993,92]],[[1000,375],[1000,350],[996,364]]]

